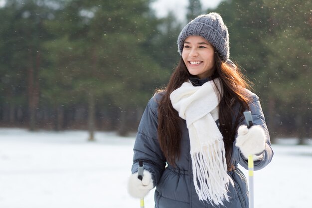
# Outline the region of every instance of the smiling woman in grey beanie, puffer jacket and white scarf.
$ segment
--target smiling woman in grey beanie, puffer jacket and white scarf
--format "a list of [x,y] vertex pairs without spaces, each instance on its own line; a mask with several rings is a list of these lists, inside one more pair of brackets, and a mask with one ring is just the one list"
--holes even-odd
[[[129,193],[143,198],[156,186],[156,208],[247,208],[246,178],[237,165],[248,169],[252,154],[259,170],[273,157],[259,98],[229,60],[228,30],[219,14],[196,17],[177,42],[180,63],[139,125]],[[253,116],[250,129],[246,110]]]

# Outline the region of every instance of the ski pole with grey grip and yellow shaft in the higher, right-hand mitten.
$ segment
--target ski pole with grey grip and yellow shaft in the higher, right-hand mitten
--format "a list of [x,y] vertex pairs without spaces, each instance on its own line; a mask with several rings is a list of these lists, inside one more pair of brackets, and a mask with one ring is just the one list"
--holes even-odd
[[[252,127],[253,120],[250,111],[245,111],[244,116],[247,128]],[[248,183],[249,183],[249,208],[254,208],[254,159],[253,155],[248,155]]]

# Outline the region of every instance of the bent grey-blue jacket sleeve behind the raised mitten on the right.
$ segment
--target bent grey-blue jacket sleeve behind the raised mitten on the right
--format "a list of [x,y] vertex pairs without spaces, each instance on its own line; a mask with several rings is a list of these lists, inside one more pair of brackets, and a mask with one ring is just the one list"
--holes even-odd
[[[271,142],[270,142],[270,135],[269,135],[269,131],[265,122],[265,118],[262,112],[262,108],[260,105],[260,101],[259,101],[259,97],[255,94],[253,94],[253,98],[252,98],[252,102],[249,105],[251,114],[252,114],[252,118],[253,118],[253,123],[254,125],[260,125],[264,131],[265,131],[265,135],[266,135],[266,147],[264,152],[262,153],[262,157],[260,160],[254,161],[254,170],[260,170],[264,167],[266,167],[272,160],[273,157],[273,150],[271,148]],[[246,121],[244,118],[240,119],[240,122],[237,126],[237,128],[241,125],[247,125]],[[235,139],[237,138],[237,131],[236,131],[236,135],[235,135]],[[236,140],[234,141],[233,144],[233,152],[232,152],[232,159],[234,159],[236,162],[238,162],[242,167],[244,167],[245,169],[248,169],[248,160],[246,158],[244,158],[244,156],[241,154],[240,150],[238,147],[236,147]],[[235,163],[235,162],[234,162]]]

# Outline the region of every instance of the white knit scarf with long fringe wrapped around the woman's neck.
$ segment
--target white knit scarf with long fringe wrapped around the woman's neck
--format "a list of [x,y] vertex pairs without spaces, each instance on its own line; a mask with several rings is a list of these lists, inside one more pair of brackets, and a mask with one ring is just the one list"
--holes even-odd
[[170,94],[172,106],[186,120],[190,140],[190,155],[193,181],[201,201],[223,205],[229,201],[228,183],[233,183],[227,174],[225,149],[222,134],[215,121],[218,120],[220,99],[216,88],[220,80],[214,79],[202,86],[184,82]]

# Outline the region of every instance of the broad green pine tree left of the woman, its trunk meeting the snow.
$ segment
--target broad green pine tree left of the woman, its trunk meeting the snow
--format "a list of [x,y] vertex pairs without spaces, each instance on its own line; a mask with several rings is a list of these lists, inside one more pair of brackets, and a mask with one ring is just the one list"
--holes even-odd
[[[75,102],[89,106],[89,140],[93,140],[99,108],[118,114],[107,119],[117,121],[119,133],[125,135],[137,123],[134,116],[138,106],[146,105],[157,82],[164,77],[146,53],[156,34],[156,17],[149,10],[149,3],[72,0],[49,23],[62,34],[47,47],[51,53],[61,54],[53,62],[70,81],[64,92],[70,92]],[[63,80],[61,86],[66,85]],[[49,90],[46,92],[50,94]]]

